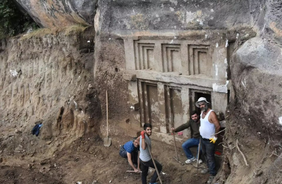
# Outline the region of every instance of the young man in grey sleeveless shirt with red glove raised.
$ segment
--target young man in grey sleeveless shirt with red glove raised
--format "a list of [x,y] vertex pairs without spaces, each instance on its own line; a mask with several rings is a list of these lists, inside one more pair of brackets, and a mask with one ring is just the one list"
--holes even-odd
[[[144,131],[141,132],[140,136],[140,162],[141,162],[141,171],[142,171],[142,184],[147,184],[147,175],[148,175],[148,170],[149,167],[154,168],[154,163],[151,158],[149,148],[151,149],[151,139],[150,136],[152,135],[152,125],[149,123],[145,123],[144,126]],[[162,170],[162,165],[155,160],[157,169],[159,173],[161,173]],[[150,184],[157,184],[156,180],[158,178],[157,171],[154,172]]]

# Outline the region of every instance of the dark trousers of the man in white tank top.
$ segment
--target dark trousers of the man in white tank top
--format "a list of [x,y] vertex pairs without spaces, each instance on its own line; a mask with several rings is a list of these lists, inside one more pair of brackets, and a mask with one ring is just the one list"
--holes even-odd
[[201,137],[201,146],[202,146],[202,152],[207,160],[207,166],[209,168],[209,174],[215,176],[215,160],[214,160],[214,143],[210,143],[210,140],[206,140]]

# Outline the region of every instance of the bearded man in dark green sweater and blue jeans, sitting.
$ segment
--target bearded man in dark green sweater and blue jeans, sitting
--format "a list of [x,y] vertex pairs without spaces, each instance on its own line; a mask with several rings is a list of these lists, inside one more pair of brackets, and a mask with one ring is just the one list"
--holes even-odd
[[[187,123],[184,123],[177,128],[171,128],[171,130],[174,131],[174,132],[180,132],[180,131],[183,131],[184,129],[190,127],[192,138],[186,140],[182,144],[182,148],[183,148],[184,153],[187,157],[187,160],[185,161],[185,163],[187,163],[187,164],[197,160],[198,151],[199,151],[199,143],[200,143],[199,127],[201,126],[201,124],[200,124],[199,113],[197,111],[192,111],[192,113],[190,115],[191,115],[192,119],[189,120]],[[192,152],[190,151],[190,148],[196,147],[196,146],[198,146],[198,148],[197,148],[197,155],[196,155],[196,158],[195,158],[194,155],[192,154]],[[201,155],[201,152],[202,152],[202,149],[200,149],[200,155]],[[199,159],[199,163],[203,163],[203,161],[201,159]]]

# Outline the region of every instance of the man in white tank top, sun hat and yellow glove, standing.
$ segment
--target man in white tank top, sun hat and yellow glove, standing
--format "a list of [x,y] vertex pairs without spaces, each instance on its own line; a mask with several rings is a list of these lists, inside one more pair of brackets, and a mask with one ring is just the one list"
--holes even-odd
[[206,174],[209,172],[209,180],[208,184],[212,183],[214,176],[216,175],[215,171],[215,160],[214,160],[214,147],[215,141],[217,140],[217,136],[220,129],[220,124],[217,119],[216,113],[208,107],[210,104],[206,98],[201,97],[196,102],[196,106],[201,108],[202,113],[200,117],[201,126],[199,128],[200,131],[200,141],[202,145],[202,152],[207,160],[207,169],[201,171],[202,174]]

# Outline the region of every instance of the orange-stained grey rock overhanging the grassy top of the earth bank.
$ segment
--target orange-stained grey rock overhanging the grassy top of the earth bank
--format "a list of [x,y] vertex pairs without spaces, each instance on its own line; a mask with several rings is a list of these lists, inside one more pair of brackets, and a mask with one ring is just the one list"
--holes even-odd
[[97,0],[16,0],[41,27],[92,25]]

